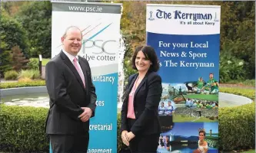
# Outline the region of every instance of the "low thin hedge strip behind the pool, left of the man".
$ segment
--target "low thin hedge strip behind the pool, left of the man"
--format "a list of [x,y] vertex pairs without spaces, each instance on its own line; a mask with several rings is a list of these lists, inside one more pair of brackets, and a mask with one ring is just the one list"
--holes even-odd
[[33,80],[33,81],[18,82],[18,83],[1,83],[0,89],[26,87],[26,86],[45,86],[45,80]]

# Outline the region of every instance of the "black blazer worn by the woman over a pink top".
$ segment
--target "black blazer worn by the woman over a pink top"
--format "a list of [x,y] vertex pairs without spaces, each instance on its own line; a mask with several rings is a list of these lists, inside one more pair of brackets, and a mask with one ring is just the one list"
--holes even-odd
[[161,77],[158,73],[149,71],[135,90],[134,110],[136,121],[131,129],[128,129],[128,96],[137,77],[138,73],[129,77],[125,100],[121,109],[121,132],[124,130],[131,131],[135,136],[160,133],[158,105],[162,93]]

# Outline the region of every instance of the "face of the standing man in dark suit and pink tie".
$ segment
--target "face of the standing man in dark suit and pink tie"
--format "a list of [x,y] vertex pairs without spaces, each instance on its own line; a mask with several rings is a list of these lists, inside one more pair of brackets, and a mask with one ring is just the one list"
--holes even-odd
[[62,37],[62,44],[65,51],[76,56],[81,49],[81,31],[71,28],[65,37]]

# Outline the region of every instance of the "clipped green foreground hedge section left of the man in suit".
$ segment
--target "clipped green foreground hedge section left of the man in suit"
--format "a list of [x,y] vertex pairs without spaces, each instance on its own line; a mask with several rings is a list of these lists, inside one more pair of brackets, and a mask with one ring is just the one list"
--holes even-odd
[[8,151],[48,151],[48,109],[0,105],[0,143]]

